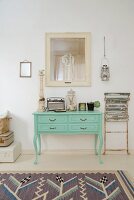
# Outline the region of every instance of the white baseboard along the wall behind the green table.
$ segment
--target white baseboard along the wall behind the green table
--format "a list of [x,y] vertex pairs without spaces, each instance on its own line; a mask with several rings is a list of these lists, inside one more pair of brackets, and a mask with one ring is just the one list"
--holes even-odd
[[[42,154],[91,154],[91,155],[95,155],[95,150],[94,149],[71,149],[71,150],[65,150],[65,149],[49,149],[49,150],[42,150],[41,152]],[[32,149],[24,149],[22,150],[22,154],[23,155],[34,155],[35,151]],[[102,150],[102,154],[103,154],[103,150]],[[126,155],[126,151],[110,151],[107,152],[106,155]],[[130,149],[129,150],[129,154],[134,155],[134,149]]]

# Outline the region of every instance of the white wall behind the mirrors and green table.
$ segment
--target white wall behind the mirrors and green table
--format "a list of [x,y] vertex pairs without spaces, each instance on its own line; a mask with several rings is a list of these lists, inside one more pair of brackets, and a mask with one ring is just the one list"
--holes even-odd
[[[73,88],[77,101],[100,100],[103,111],[104,92],[130,92],[129,148],[134,149],[133,10],[133,0],[0,0],[0,111],[11,112],[11,128],[23,149],[33,149],[32,113],[38,107],[38,70],[45,65],[45,32],[92,33],[92,86]],[[104,35],[109,82],[100,79]],[[32,62],[32,78],[19,77],[25,59]],[[45,97],[64,97],[68,90],[48,87]],[[94,136],[46,136],[43,148],[92,149],[93,142]]]

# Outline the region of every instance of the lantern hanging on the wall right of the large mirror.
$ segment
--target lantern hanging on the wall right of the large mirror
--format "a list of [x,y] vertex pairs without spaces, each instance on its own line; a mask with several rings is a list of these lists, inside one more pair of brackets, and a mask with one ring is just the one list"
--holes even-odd
[[104,57],[101,62],[101,80],[109,81],[109,78],[110,78],[110,70],[109,70],[109,62],[105,54],[105,36],[104,36]]

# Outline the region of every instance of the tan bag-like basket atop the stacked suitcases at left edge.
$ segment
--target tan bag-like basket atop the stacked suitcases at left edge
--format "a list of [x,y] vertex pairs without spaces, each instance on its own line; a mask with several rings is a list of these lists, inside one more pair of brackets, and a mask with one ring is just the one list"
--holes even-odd
[[9,131],[9,119],[10,118],[1,118],[0,119],[0,134],[6,133]]

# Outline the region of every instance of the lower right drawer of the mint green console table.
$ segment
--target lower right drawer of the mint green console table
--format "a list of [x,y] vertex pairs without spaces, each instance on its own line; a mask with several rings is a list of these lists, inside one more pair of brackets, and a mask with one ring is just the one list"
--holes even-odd
[[70,124],[69,125],[69,131],[70,132],[98,132],[99,126],[98,124]]

